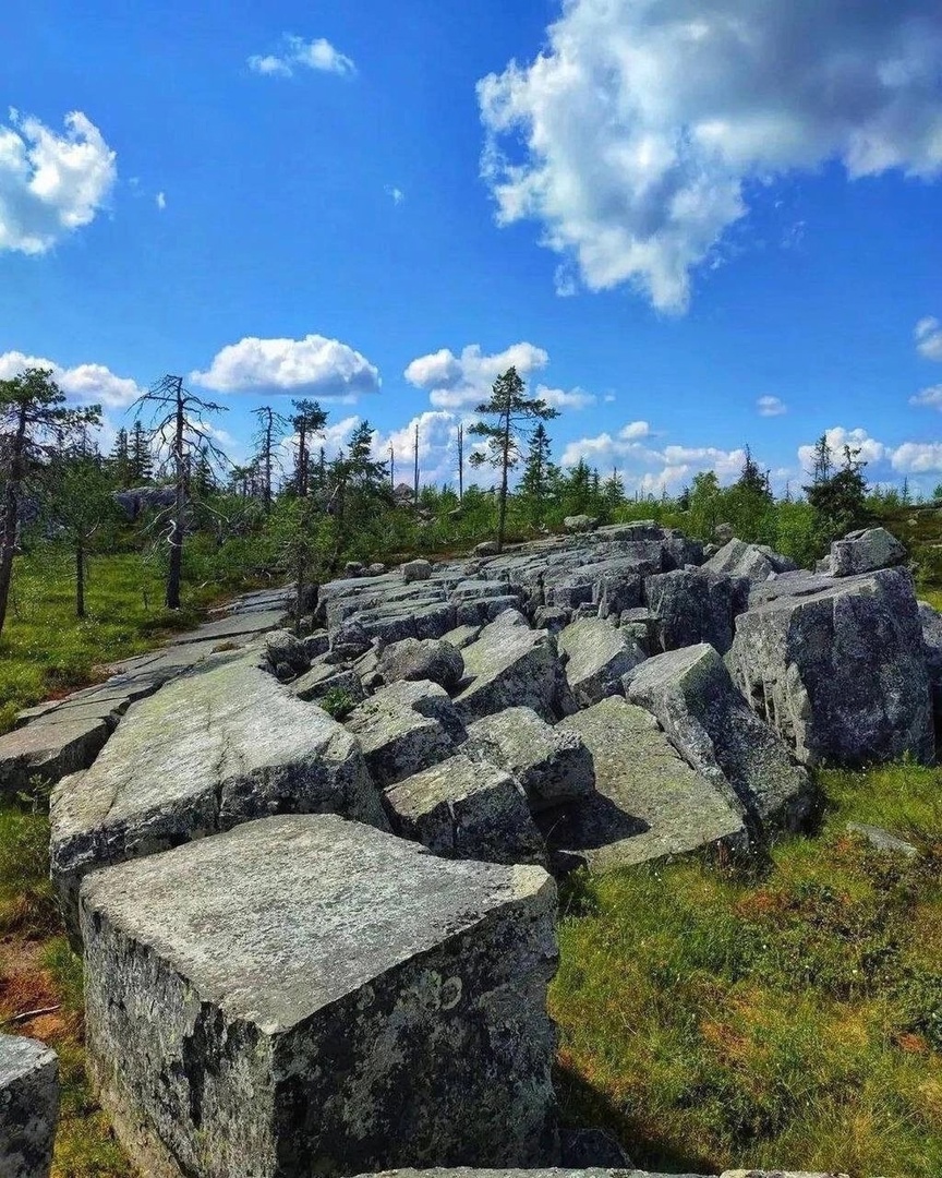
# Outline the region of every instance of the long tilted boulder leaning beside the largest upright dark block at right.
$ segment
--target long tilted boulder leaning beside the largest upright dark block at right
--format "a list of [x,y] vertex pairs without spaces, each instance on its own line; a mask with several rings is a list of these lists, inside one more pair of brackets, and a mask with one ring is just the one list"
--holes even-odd
[[757,822],[789,830],[807,823],[807,772],[750,709],[711,646],[649,659],[625,676],[625,695],[657,717],[691,768],[732,786]]

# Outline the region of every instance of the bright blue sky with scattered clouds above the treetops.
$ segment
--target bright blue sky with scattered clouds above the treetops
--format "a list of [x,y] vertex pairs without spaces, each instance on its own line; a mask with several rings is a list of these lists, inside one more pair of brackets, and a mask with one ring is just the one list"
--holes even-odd
[[237,458],[318,397],[444,479],[516,362],[629,490],[825,430],[942,481],[937,0],[81,7],[5,16],[0,376],[113,429],[184,373]]

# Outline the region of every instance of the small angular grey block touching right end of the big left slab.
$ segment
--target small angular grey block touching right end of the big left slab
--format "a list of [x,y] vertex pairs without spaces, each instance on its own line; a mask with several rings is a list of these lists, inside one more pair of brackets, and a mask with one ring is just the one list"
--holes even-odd
[[463,735],[447,693],[430,682],[391,683],[356,707],[345,723],[383,788],[444,761]]

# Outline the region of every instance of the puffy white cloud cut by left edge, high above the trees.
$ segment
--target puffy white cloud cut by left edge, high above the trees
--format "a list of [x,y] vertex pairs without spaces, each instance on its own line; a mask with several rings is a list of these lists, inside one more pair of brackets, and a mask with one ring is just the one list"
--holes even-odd
[[115,154],[81,111],[57,134],[11,110],[0,125],[0,251],[46,253],[91,224],[118,177]]

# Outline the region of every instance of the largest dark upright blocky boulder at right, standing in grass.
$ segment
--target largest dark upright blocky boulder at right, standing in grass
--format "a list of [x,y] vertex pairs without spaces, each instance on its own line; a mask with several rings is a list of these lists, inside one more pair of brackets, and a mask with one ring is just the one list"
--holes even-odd
[[800,596],[774,597],[739,615],[729,655],[735,682],[805,765],[861,766],[904,754],[931,763],[929,679],[911,577],[881,569],[815,591],[822,580],[795,577]]

